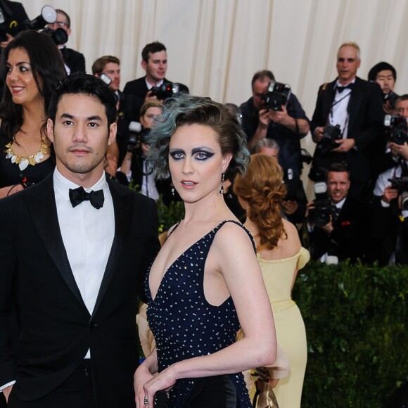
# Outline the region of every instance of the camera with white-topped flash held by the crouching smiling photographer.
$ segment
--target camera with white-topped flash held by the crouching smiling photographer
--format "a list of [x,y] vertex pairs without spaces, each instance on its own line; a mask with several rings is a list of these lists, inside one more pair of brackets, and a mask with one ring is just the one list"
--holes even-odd
[[336,221],[337,208],[331,204],[331,199],[327,194],[327,184],[319,181],[314,184],[314,194],[316,198],[313,201],[314,208],[309,208],[307,221],[317,227],[324,227],[326,224]]

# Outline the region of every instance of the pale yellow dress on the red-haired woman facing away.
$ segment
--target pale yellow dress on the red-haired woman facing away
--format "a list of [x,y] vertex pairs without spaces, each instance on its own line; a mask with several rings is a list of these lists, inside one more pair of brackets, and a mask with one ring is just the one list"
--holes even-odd
[[301,248],[298,254],[281,260],[264,260],[259,254],[257,257],[274,312],[276,338],[291,363],[291,373],[279,380],[274,393],[279,408],[298,408],[305,377],[307,344],[302,314],[291,299],[291,286],[293,274],[305,266],[310,254]]

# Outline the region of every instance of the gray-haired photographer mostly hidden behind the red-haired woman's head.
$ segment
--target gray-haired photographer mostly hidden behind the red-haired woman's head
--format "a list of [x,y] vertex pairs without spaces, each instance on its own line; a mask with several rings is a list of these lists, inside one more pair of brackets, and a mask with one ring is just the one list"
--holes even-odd
[[[277,144],[274,139],[260,139],[260,141],[257,141],[255,144],[253,152],[278,159],[279,144]],[[293,177],[293,172],[291,169],[288,169],[283,171],[283,183],[286,184],[287,190],[286,196],[282,200],[283,216],[292,224],[301,224],[305,219],[307,204],[302,180]]]

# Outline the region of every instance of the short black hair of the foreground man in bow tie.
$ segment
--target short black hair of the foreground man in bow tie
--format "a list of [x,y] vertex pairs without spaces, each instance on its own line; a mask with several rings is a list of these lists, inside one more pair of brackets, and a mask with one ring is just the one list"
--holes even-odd
[[108,117],[108,130],[110,125],[116,121],[117,109],[116,99],[110,88],[102,79],[94,75],[75,72],[63,80],[53,94],[49,105],[48,117],[55,123],[58,103],[63,95],[87,95],[98,99],[105,106],[106,117]]

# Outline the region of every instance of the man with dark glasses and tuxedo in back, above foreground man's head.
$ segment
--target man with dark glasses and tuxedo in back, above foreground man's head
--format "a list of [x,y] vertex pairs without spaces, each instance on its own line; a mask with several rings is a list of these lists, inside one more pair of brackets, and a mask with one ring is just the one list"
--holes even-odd
[[[65,13],[65,11],[56,9],[57,20],[53,24],[47,24],[48,28],[51,30],[56,30],[57,28],[62,28],[68,34],[71,34],[71,19],[70,16]],[[65,44],[58,45],[61,53],[63,54],[63,60],[65,63],[65,68],[67,68],[68,75],[74,72],[86,72],[85,69],[85,57],[84,54],[79,53],[73,49],[67,48]]]

